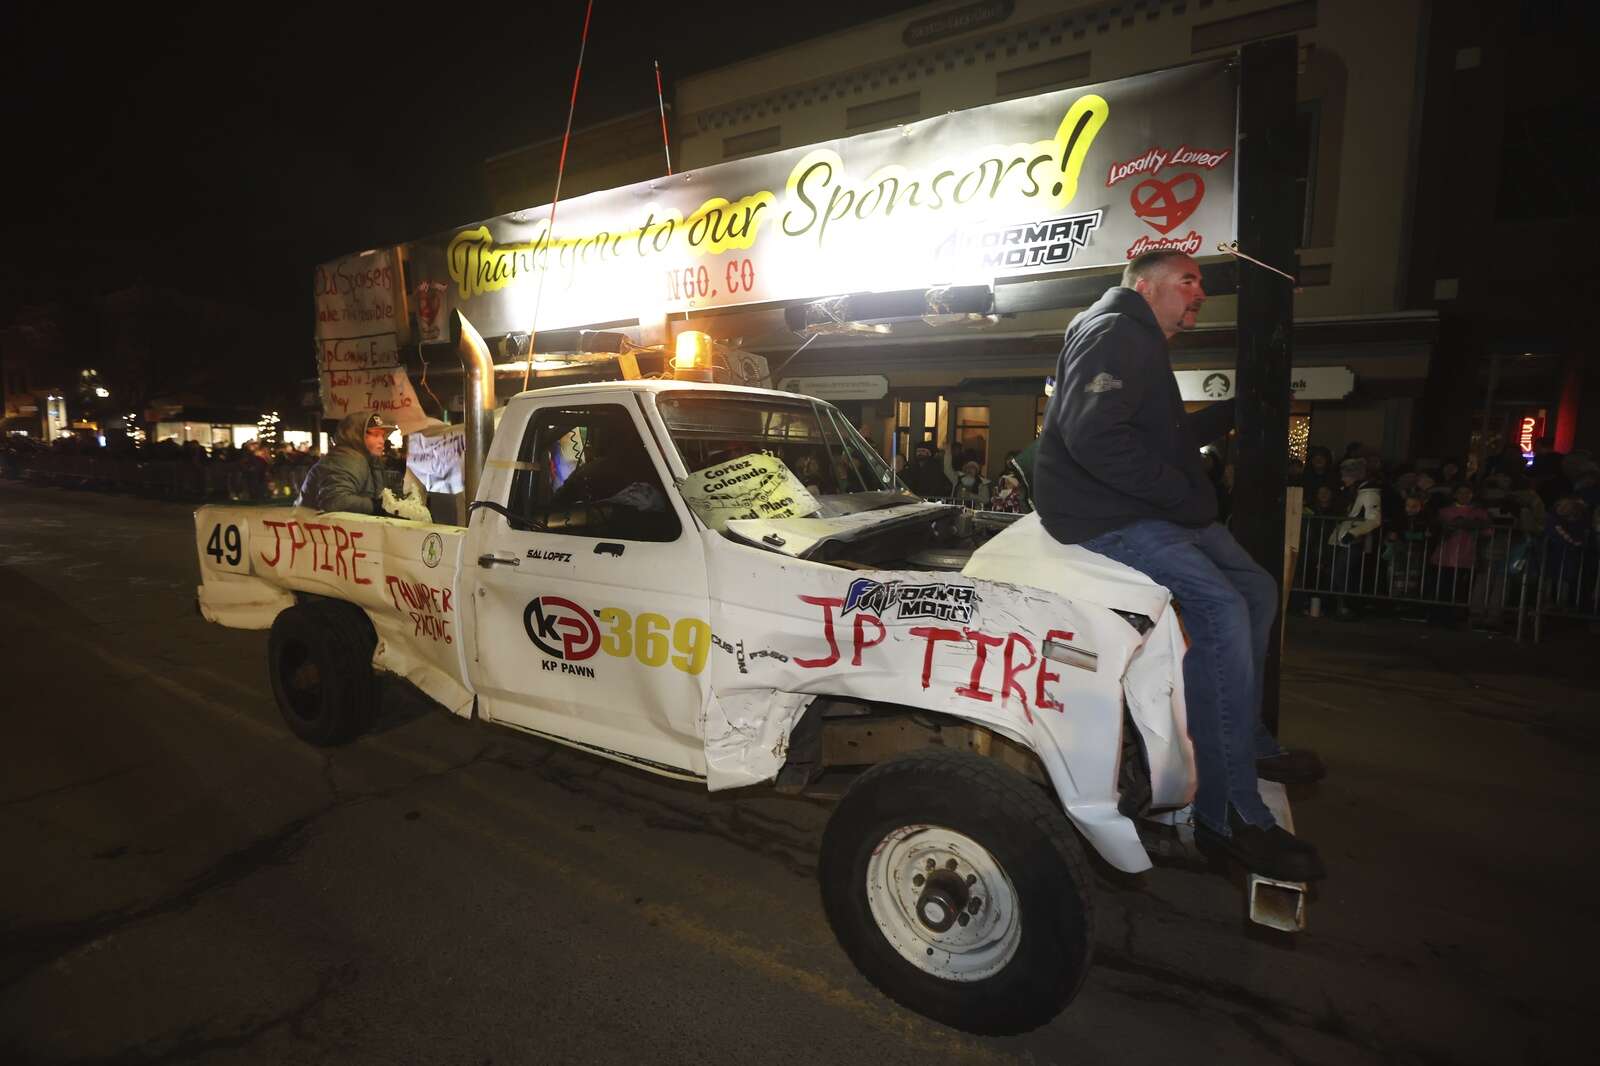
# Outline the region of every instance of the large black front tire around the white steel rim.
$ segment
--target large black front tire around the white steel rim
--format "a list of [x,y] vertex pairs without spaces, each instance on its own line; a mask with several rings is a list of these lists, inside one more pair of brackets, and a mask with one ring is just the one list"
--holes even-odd
[[[942,962],[914,965],[874,917],[867,890],[869,876],[883,876],[883,866],[894,855],[917,855],[914,864],[904,869],[922,871],[922,863],[928,861],[922,855],[936,850],[936,844],[949,839],[952,831],[976,842],[1002,871],[1003,879],[998,880],[1013,893],[1011,919],[1019,924],[1019,932],[1011,933],[1014,946],[1010,956],[997,949],[990,962],[994,972],[970,970],[965,980],[955,980],[954,970],[941,972],[947,975],[933,972]],[[926,850],[917,852],[918,847]],[[904,890],[922,892],[922,896],[912,908],[914,914],[904,916],[909,922],[893,927],[893,932],[912,954],[922,956],[926,944],[926,956],[942,960],[942,946],[957,952],[962,936],[984,933],[968,933],[966,924],[944,933],[930,928],[922,917],[930,912],[925,903],[934,890],[934,879],[946,877],[941,866],[933,871],[915,882],[923,885],[920,890]],[[818,874],[827,920],[856,968],[890,999],[947,1026],[979,1034],[1026,1032],[1061,1013],[1088,973],[1094,909],[1078,840],[1066,815],[1037,784],[990,759],[931,749],[864,773],[845,794],[822,834]],[[955,868],[955,882],[970,876]],[[888,880],[912,884],[894,877]],[[981,887],[992,880],[997,879],[990,876],[974,884]],[[878,906],[893,909],[885,903],[891,895],[877,893]],[[1005,895],[998,893],[998,898]],[[942,911],[946,917],[965,914],[971,900],[946,898],[931,911],[941,912],[950,903],[955,906]],[[974,925],[978,919],[989,917],[981,914],[982,904],[979,898],[971,908]],[[1003,917],[994,916],[992,920]],[[963,957],[978,959],[979,952],[974,948],[966,956],[950,954],[950,967],[971,967],[971,962],[958,962]]]

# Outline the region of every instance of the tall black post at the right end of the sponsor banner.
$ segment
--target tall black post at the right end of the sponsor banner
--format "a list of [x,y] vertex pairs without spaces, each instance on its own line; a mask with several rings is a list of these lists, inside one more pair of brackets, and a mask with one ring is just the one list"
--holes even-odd
[[[1298,64],[1298,40],[1278,37],[1245,45],[1238,70],[1238,250],[1294,275],[1301,229],[1294,218]],[[1232,531],[1274,579],[1283,578],[1293,331],[1294,285],[1240,261]],[[1261,715],[1274,733],[1280,632],[1280,626],[1272,627],[1261,693]]]

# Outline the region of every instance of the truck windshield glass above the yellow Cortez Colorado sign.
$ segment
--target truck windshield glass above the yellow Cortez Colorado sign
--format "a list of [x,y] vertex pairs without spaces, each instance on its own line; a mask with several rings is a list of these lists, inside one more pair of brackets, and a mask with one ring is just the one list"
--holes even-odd
[[904,491],[872,445],[829,403],[672,392],[658,408],[691,474],[766,455],[789,467],[811,496]]

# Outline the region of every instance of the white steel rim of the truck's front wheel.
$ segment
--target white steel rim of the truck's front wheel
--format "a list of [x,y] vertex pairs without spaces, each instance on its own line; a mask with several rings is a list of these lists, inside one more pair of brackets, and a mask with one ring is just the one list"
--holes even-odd
[[878,932],[923,973],[982,981],[1022,941],[1011,879],[986,847],[954,829],[901,826],[885,836],[867,860],[866,888]]

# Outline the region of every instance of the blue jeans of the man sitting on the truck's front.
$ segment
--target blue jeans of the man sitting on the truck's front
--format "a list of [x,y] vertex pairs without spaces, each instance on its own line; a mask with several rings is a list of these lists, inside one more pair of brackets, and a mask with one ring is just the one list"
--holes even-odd
[[1083,547],[1165,584],[1182,611],[1184,698],[1200,776],[1195,818],[1222,836],[1229,807],[1251,826],[1274,824],[1256,786],[1256,759],[1283,751],[1261,720],[1278,583],[1214,522],[1195,530],[1144,519]]

